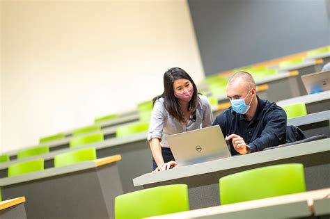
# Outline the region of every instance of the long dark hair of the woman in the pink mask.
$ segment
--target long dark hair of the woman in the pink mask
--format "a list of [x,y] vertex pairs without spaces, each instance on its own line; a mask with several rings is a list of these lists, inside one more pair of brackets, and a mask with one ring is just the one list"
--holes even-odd
[[192,115],[196,113],[196,109],[198,106],[198,90],[196,87],[196,84],[194,83],[193,79],[185,72],[182,70],[180,67],[172,67],[168,69],[165,74],[164,74],[164,92],[162,95],[159,95],[152,99],[152,104],[155,104],[156,100],[163,97],[164,98],[164,106],[166,108],[166,111],[175,119],[179,120],[182,123],[185,123],[183,113],[180,108],[180,104],[178,99],[174,96],[174,90],[173,90],[173,83],[175,80],[178,79],[187,79],[190,81],[192,86],[194,87],[194,93],[191,97],[191,100],[189,102],[189,108],[188,110]]

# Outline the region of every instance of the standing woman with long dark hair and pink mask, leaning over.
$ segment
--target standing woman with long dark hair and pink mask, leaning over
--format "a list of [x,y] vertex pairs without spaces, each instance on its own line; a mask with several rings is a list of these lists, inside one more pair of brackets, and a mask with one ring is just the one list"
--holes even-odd
[[194,81],[180,67],[165,72],[164,92],[152,102],[148,142],[157,172],[176,166],[166,136],[209,127],[213,117],[210,102],[198,94]]

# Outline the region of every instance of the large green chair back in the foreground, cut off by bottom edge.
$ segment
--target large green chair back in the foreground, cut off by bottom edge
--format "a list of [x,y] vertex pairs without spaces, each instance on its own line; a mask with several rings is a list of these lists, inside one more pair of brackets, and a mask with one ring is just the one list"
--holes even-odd
[[147,218],[189,211],[188,186],[175,184],[146,188],[115,198],[115,218]]

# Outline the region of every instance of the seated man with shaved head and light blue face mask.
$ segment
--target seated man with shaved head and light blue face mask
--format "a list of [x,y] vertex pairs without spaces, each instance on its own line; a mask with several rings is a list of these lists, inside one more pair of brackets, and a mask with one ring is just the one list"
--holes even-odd
[[230,152],[248,154],[285,143],[286,114],[283,108],[256,92],[256,83],[248,72],[237,72],[227,84],[227,97],[232,106],[214,120],[219,124]]

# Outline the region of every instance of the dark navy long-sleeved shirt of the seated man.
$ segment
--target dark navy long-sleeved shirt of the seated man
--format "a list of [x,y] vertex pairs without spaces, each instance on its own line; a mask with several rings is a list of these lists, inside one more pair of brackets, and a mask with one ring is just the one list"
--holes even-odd
[[[251,121],[245,116],[233,111],[230,106],[214,120],[212,125],[219,124],[223,136],[237,134],[241,136],[252,152],[262,151],[266,147],[273,147],[285,143],[286,114],[283,108],[265,99],[258,99],[256,115]],[[239,154],[230,140],[230,152]]]

